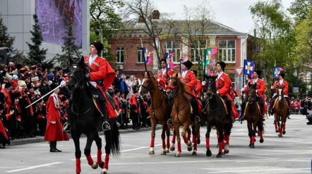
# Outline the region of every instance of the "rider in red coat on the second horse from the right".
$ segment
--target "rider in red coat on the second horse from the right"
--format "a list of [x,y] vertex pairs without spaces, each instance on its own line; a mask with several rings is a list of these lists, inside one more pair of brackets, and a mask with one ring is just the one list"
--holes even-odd
[[[262,79],[260,79],[260,75],[261,75],[261,70],[254,70],[253,74],[254,74],[254,78],[253,79],[250,79],[248,81],[248,84],[256,84],[256,98],[255,100],[258,102],[258,104],[260,105],[260,108],[261,108],[261,116],[260,116],[260,121],[261,122],[264,122],[265,119],[264,119],[264,111],[265,111],[265,102],[264,102],[264,99],[265,99],[265,90],[266,90],[266,86],[263,82]],[[248,93],[248,84],[247,84],[247,87],[243,87],[242,90],[244,90],[244,92],[247,94]],[[240,120],[243,120],[244,118],[244,111],[245,111],[245,106],[246,106],[246,103],[247,103],[247,97],[245,97],[243,103],[242,103],[242,112],[241,112],[241,117],[240,117]]]

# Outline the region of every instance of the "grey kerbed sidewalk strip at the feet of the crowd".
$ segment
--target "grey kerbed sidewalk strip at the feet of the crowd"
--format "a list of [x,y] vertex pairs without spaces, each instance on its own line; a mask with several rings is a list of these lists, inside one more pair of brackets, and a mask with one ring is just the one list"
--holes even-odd
[[[161,129],[161,128],[162,126],[160,124],[156,124],[156,130]],[[151,130],[152,130],[151,127],[142,127],[139,130],[133,130],[132,123],[128,123],[128,129],[119,129],[119,133],[128,134],[128,133],[133,133],[133,132],[142,132],[142,131],[151,131]],[[103,133],[104,133],[103,131],[98,132],[98,135],[102,136]],[[68,137],[69,139],[72,138],[70,135]],[[82,134],[81,137],[86,137],[86,136]],[[13,141],[11,141],[11,146],[29,144],[29,143],[37,143],[37,142],[43,142],[43,141],[45,141],[43,136],[36,136],[35,138],[14,139]],[[6,146],[10,146],[10,145],[6,145]]]

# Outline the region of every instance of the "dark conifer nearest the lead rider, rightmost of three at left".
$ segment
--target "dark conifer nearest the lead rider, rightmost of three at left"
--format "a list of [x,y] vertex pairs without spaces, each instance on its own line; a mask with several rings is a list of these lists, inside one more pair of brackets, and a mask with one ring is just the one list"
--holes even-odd
[[68,25],[66,28],[67,36],[62,37],[64,39],[64,45],[61,46],[63,54],[57,53],[54,59],[58,60],[60,65],[68,67],[69,58],[79,58],[82,52],[79,51],[79,46],[75,45],[76,38],[73,35],[73,25]]

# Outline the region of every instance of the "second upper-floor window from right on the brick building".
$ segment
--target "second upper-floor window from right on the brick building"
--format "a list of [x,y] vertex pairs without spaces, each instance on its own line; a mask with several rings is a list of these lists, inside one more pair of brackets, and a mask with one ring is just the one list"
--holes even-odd
[[206,40],[191,41],[191,58],[193,62],[202,60],[205,48],[206,48]]

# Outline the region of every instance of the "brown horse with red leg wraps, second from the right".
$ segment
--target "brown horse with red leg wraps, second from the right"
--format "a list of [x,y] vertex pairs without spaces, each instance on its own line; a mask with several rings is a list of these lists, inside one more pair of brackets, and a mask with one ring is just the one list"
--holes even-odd
[[256,102],[256,84],[250,84],[248,83],[248,92],[247,92],[247,99],[248,102],[246,103],[244,115],[247,120],[247,127],[248,127],[248,135],[250,138],[250,148],[254,148],[254,141],[255,141],[255,133],[256,129],[258,127],[258,133],[260,135],[260,143],[264,141],[263,139],[263,122],[260,121],[259,117],[261,115],[260,106]]

